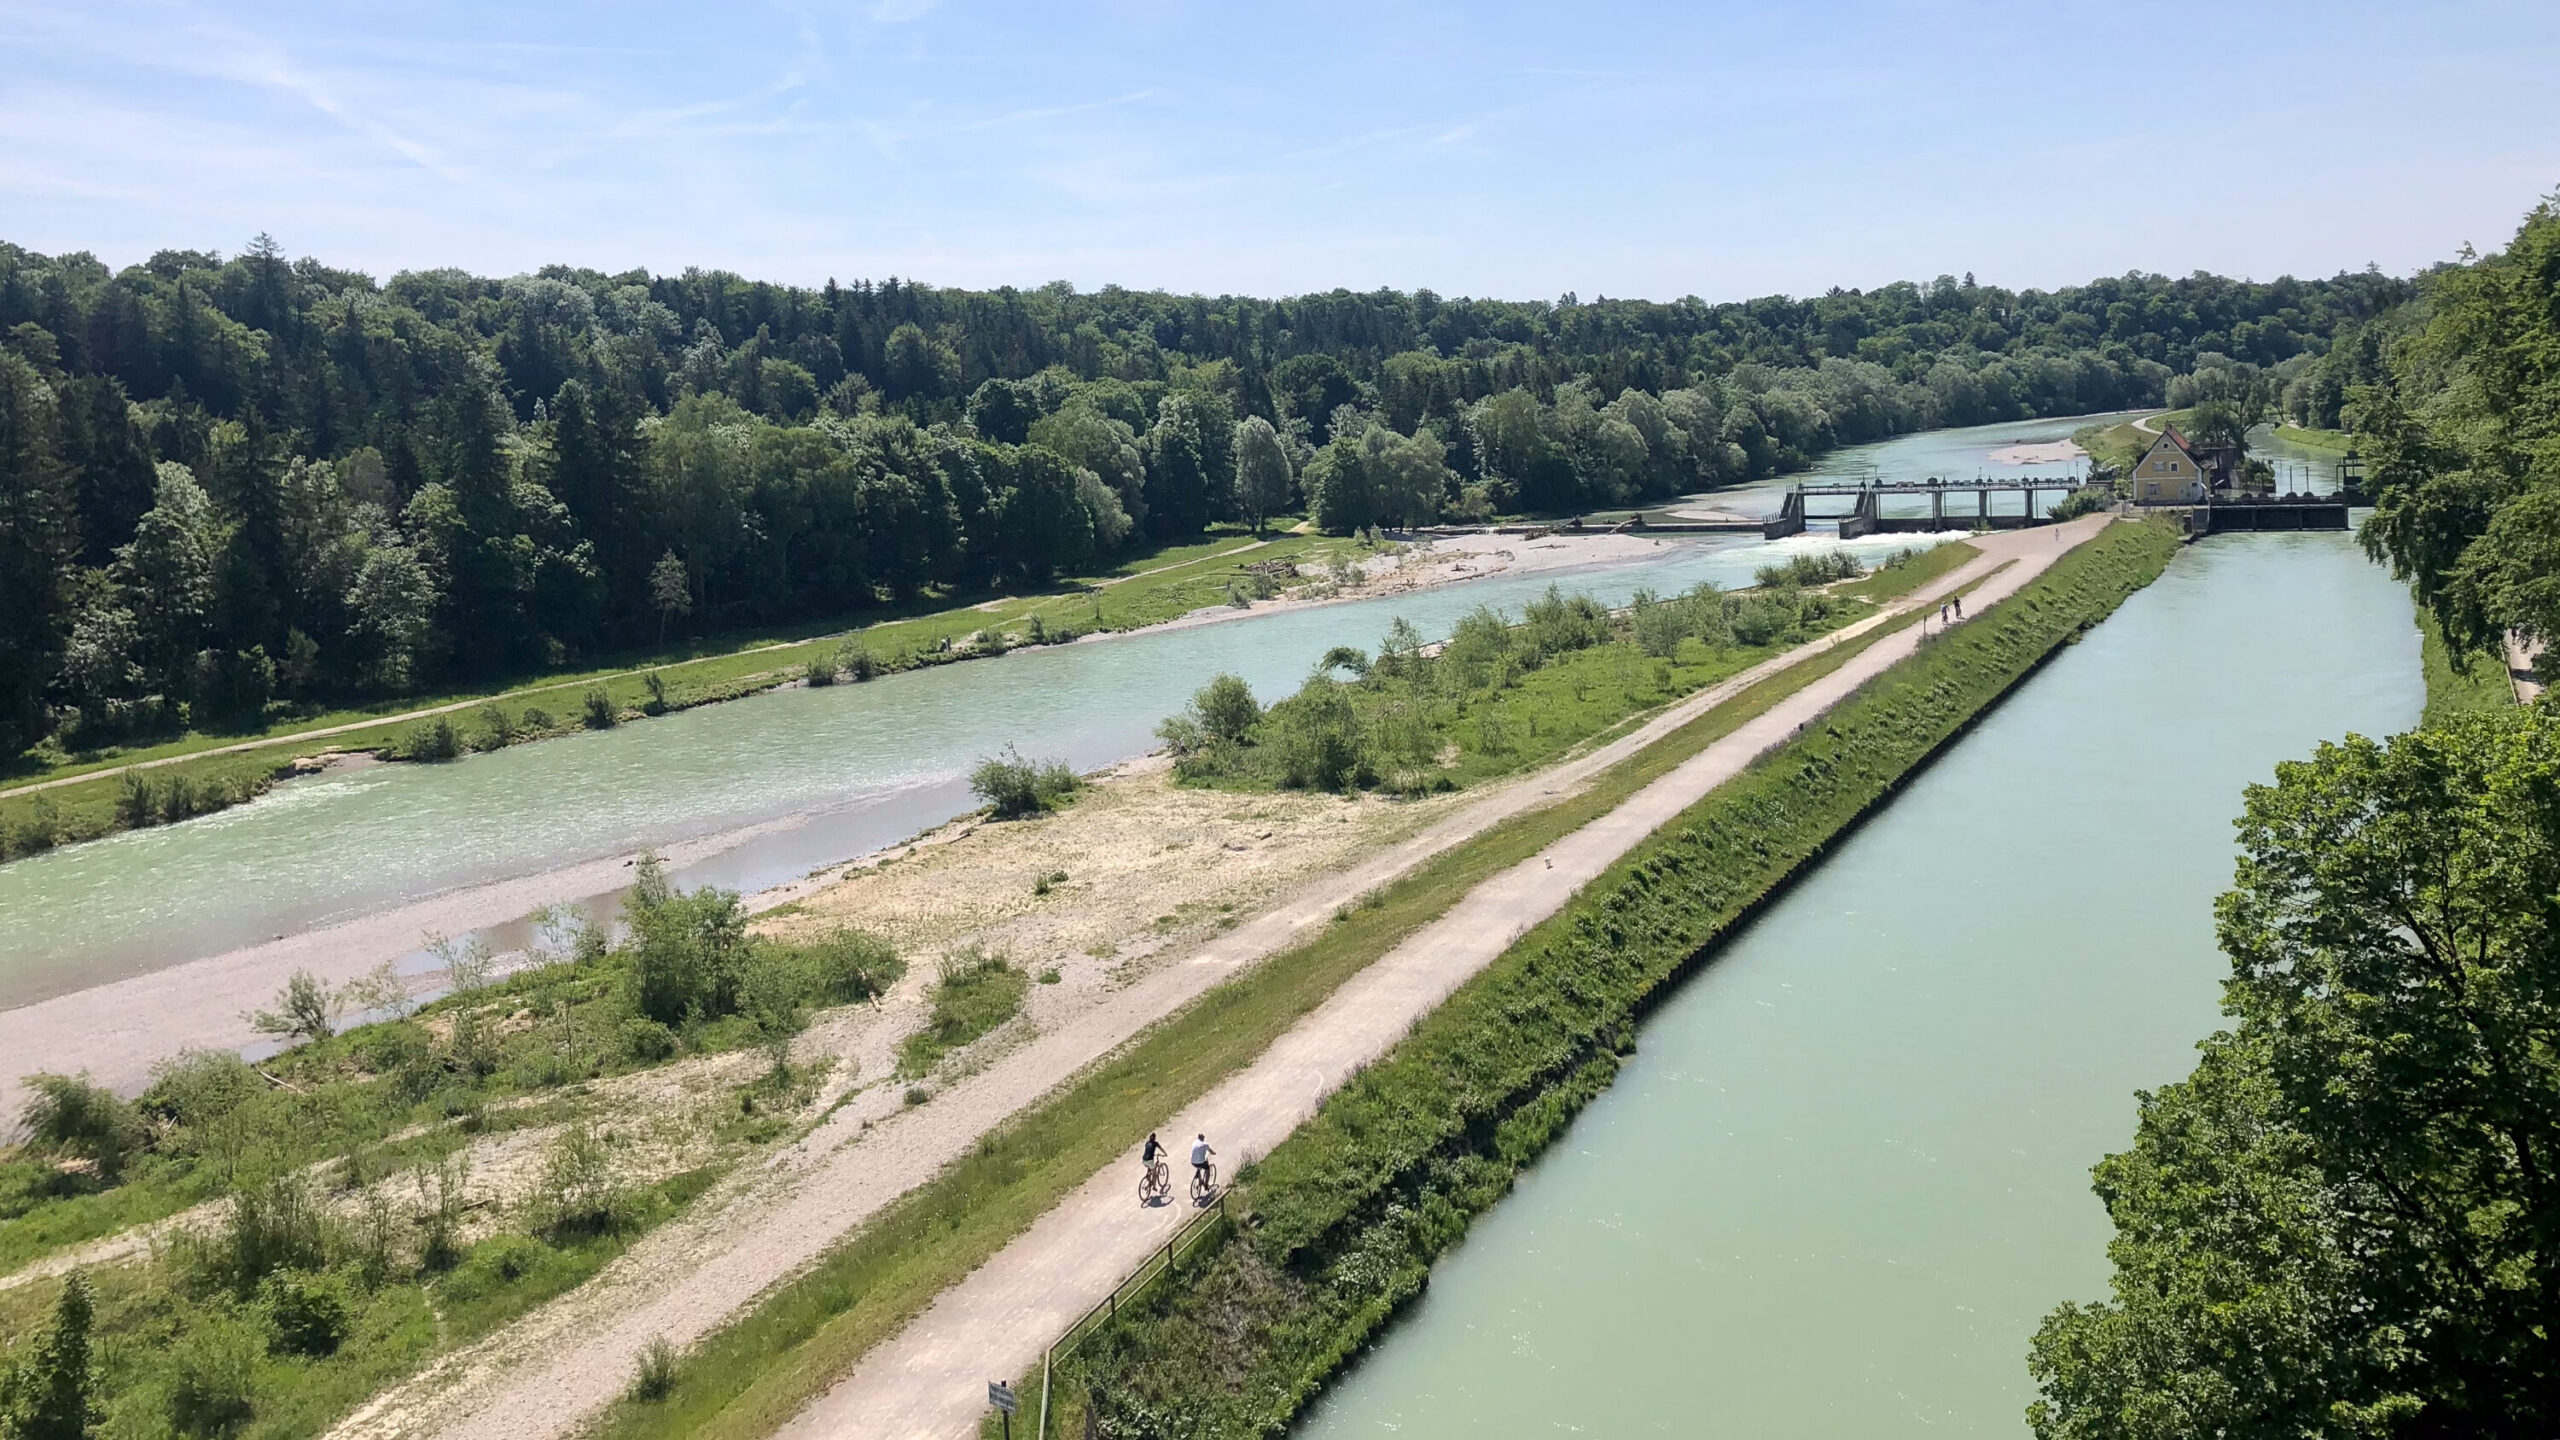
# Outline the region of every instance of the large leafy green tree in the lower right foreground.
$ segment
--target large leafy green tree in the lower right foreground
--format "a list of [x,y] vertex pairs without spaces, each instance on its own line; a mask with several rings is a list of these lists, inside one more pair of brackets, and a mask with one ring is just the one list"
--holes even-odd
[[2115,1299],[2038,1435],[2547,1435],[2560,1361],[2560,720],[2350,735],[2250,787],[2232,1030],[2097,1168]]

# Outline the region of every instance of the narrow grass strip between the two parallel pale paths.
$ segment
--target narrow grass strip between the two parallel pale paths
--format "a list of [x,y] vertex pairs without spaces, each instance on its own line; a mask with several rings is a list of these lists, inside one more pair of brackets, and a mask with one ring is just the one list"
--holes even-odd
[[[1971,553],[1943,546],[1841,589],[1859,589],[1861,600],[1892,600]],[[1748,687],[1608,769],[1585,792],[1454,846],[1347,907],[1321,935],[1152,1025],[1114,1058],[1016,1115],[965,1158],[891,1202],[804,1276],[701,1340],[678,1366],[666,1396],[617,1402],[594,1432],[607,1440],[768,1435],[940,1291],[986,1263],[1096,1168],[1126,1150],[1132,1135],[1144,1135],[1149,1125],[1252,1063],[1334,989],[1469,889],[1608,815],[1713,740],[1912,623],[1917,615],[1902,615]],[[1595,676],[1618,669],[1597,648],[1572,664],[1592,666]],[[1613,730],[1615,725],[1603,728],[1592,738]]]

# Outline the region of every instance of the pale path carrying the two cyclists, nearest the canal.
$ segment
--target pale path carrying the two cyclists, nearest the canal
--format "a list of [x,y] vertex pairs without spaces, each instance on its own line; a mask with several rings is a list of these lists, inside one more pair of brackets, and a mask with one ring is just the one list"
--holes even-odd
[[[1989,607],[2104,525],[2104,515],[2089,515],[2058,528],[1976,538],[1974,546],[1987,551],[1984,559],[1923,587],[1894,610],[1938,605],[1940,597],[1974,582],[1981,582],[1971,597],[1974,607]],[[1876,623],[1882,618],[1861,623],[1859,630]],[[1492,963],[1526,930],[1562,910],[1587,881],[1710,789],[1741,774],[1756,756],[1784,743],[1797,725],[1823,715],[1917,646],[1920,628],[1876,641],[1833,674],[1815,679],[1690,756],[1679,769],[1628,797],[1626,805],[1475,887],[1446,915],[1416,930],[1334,992],[1262,1058],[1167,1120],[1160,1133],[1172,1140],[1175,1186],[1188,1181],[1183,1161],[1193,1135],[1206,1133],[1211,1145],[1221,1150],[1224,1166],[1234,1166],[1244,1156],[1267,1156],[1316,1112],[1334,1086],[1403,1040],[1416,1020]],[[1818,648],[1807,646],[1782,659],[1792,664]],[[1733,694],[1738,682],[1746,684],[1774,669],[1779,669],[1777,661],[1702,692],[1590,758],[1610,751],[1615,751],[1610,758],[1623,758]],[[986,1381],[1034,1371],[1050,1340],[1101,1302],[1124,1273],[1162,1248],[1193,1215],[1190,1204],[1180,1199],[1160,1209],[1142,1209],[1137,1176],[1137,1140],[1132,1140],[1121,1161],[1088,1179],[993,1261],[945,1291],[893,1340],[865,1355],[850,1376],[783,1425],[781,1437],[960,1440],[975,1435],[986,1412]]]

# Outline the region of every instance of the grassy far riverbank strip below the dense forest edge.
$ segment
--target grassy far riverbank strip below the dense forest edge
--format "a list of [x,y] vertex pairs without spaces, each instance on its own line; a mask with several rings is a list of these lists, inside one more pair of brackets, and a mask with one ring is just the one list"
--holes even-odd
[[[82,774],[95,779],[0,794],[0,858],[225,810],[289,774],[297,756],[374,751],[387,758],[451,758],[463,751],[737,700],[801,679],[812,664],[850,671],[858,656],[868,656],[873,671],[896,671],[1001,653],[993,646],[978,648],[970,638],[983,630],[1011,635],[1006,646],[1027,643],[1034,618],[1047,641],[1160,625],[1206,605],[1229,602],[1239,589],[1244,564],[1267,559],[1306,564],[1347,546],[1352,541],[1285,533],[1254,546],[1252,536],[1219,533],[1196,546],[1155,551],[1116,571],[1065,582],[1047,592],[998,597],[983,605],[955,605],[942,597],[932,600],[934,610],[873,620],[852,630],[812,625],[804,633],[735,633],[494,692],[402,697],[369,710],[302,715],[253,735],[189,733],[156,746],[72,756],[28,753],[0,781],[0,789]],[[422,710],[445,712],[425,720],[412,717]],[[315,730],[346,725],[353,730],[315,735]],[[230,746],[251,748],[228,751]],[[218,748],[228,753],[205,753]],[[187,756],[202,758],[189,761]],[[125,766],[148,769],[125,771]]]

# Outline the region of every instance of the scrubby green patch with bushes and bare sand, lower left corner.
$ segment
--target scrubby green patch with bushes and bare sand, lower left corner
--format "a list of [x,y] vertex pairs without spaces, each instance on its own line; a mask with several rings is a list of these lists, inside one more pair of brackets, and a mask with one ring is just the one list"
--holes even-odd
[[[131,1107],[56,1081],[74,1104],[0,1153],[0,1268],[223,1202],[92,1268],[102,1432],[315,1435],[573,1289],[799,1125],[822,1068],[783,1066],[783,1045],[901,963],[863,935],[781,945],[740,920],[722,892],[668,894],[620,948],[584,933],[556,963],[259,1068],[182,1056]],[[771,1063],[614,1089],[748,1045]],[[509,1140],[530,1130],[550,1133]],[[509,1148],[527,1171],[474,1191],[471,1153]],[[0,1345],[41,1330],[56,1291],[0,1291]]]

